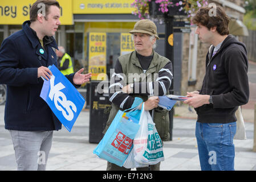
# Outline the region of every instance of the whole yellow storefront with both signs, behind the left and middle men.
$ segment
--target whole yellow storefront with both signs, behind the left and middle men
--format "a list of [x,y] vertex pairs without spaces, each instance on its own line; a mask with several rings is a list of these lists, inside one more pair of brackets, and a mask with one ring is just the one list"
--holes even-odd
[[[3,39],[21,30],[29,19],[35,0],[2,0],[0,3],[0,44]],[[133,0],[59,0],[61,9],[56,42],[63,46],[74,61],[75,71],[86,68],[92,80],[99,73],[113,68],[117,57],[132,51],[131,35],[137,16],[132,15]]]

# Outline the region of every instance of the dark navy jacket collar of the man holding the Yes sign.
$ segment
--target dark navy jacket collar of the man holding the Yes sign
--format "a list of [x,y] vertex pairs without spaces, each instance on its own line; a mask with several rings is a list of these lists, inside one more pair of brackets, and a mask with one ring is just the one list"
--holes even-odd
[[[25,32],[27,38],[30,40],[32,47],[35,48],[40,44],[38,37],[36,36],[36,32],[30,28],[30,20],[25,21],[22,24],[23,31]],[[56,44],[55,39],[52,36],[44,36],[43,41],[46,42],[51,47],[54,47],[55,49],[58,49],[58,46]]]

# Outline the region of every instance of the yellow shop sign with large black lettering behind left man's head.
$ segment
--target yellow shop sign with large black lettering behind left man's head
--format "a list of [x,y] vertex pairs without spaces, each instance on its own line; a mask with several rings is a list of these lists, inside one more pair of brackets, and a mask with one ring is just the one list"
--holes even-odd
[[[30,19],[30,7],[35,0],[1,0],[0,24],[22,24]],[[60,23],[73,24],[72,1],[58,0],[60,4]]]

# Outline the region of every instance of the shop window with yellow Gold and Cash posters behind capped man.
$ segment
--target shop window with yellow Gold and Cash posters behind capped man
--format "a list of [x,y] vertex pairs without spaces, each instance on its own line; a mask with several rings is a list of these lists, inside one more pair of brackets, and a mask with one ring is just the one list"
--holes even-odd
[[[87,71],[93,73],[92,80],[104,80],[104,78],[97,78],[100,73],[106,73],[106,79],[109,80],[110,69],[115,67],[117,58],[123,53],[133,51],[131,34],[128,32],[132,30],[134,24],[135,22],[84,23],[85,59],[83,61],[87,65]],[[122,39],[122,35],[125,35],[125,40]],[[127,41],[125,44],[131,45],[129,51],[121,48],[122,41]]]

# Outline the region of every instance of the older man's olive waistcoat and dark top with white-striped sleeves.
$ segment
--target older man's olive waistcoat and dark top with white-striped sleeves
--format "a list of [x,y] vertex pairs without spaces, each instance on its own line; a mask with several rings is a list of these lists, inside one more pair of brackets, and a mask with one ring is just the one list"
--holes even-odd
[[[109,101],[112,102],[112,108],[103,133],[107,131],[117,111],[129,109],[135,97],[140,97],[145,102],[148,96],[169,94],[172,78],[172,63],[155,51],[148,57],[141,56],[136,51],[120,56],[109,85]],[[132,83],[133,93],[127,94],[121,90],[125,85]],[[169,140],[168,110],[155,108],[153,121],[161,139]]]

